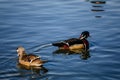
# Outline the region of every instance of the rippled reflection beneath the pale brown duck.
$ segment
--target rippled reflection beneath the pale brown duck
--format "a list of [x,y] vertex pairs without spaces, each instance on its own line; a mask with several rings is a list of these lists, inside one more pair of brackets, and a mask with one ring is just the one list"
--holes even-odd
[[23,75],[30,75],[31,79],[43,76],[48,72],[48,70],[43,66],[41,66],[41,67],[30,67],[30,66],[24,66],[24,65],[21,65],[20,63],[18,63],[17,67],[18,67],[18,69],[20,71],[20,74],[22,76]]

